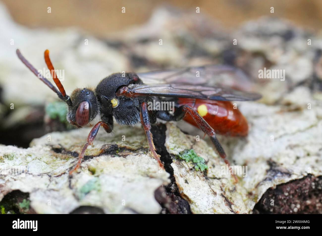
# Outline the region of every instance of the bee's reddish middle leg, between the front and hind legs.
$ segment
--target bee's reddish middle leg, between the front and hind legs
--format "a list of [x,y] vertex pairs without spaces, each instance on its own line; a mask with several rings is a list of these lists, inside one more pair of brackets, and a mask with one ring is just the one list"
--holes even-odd
[[164,169],[163,163],[161,162],[159,155],[156,153],[156,148],[153,143],[153,137],[150,132],[151,124],[150,124],[150,118],[149,118],[149,111],[147,109],[147,103],[143,102],[141,105],[141,124],[144,128],[145,134],[147,135],[147,141],[149,143],[150,151],[153,154],[154,159],[159,163],[160,167]]

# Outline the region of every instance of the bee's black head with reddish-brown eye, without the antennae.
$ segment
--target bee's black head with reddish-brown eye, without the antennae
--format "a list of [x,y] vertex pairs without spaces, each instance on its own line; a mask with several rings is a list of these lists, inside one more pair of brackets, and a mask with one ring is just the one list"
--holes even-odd
[[77,127],[88,125],[99,114],[99,101],[91,89],[75,89],[71,94],[71,101],[67,120]]

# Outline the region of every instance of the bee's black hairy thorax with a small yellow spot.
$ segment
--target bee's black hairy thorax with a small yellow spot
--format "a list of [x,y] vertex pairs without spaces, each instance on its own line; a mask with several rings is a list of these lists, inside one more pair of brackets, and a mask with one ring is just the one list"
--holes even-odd
[[116,122],[121,125],[134,125],[140,122],[139,99],[116,96],[120,87],[133,83],[141,83],[136,74],[116,73],[103,79],[96,87],[97,96],[102,103],[102,112],[111,112]]

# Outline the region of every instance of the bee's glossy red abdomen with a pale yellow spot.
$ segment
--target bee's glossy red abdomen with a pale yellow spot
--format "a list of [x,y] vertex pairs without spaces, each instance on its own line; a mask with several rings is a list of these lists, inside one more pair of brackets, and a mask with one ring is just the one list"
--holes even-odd
[[[187,104],[194,108],[217,134],[246,136],[248,124],[246,118],[230,101],[178,98],[179,105]],[[196,127],[194,119],[186,114],[184,120]]]

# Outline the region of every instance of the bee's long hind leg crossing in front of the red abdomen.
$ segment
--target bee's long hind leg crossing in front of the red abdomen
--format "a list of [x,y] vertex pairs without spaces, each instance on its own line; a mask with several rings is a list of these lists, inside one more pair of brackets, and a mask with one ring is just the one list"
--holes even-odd
[[[230,166],[229,161],[226,159],[226,153],[223,150],[222,145],[219,143],[215,131],[213,128],[202,118],[198,112],[196,112],[192,107],[188,105],[182,105],[178,109],[175,110],[174,115],[170,115],[167,112],[159,111],[156,113],[157,118],[166,120],[166,121],[179,121],[185,117],[185,114],[188,113],[193,119],[194,122],[198,125],[198,127],[204,131],[210,137],[213,145],[215,146],[218,154],[224,159],[224,162]],[[234,175],[234,179],[238,182],[237,177]]]

